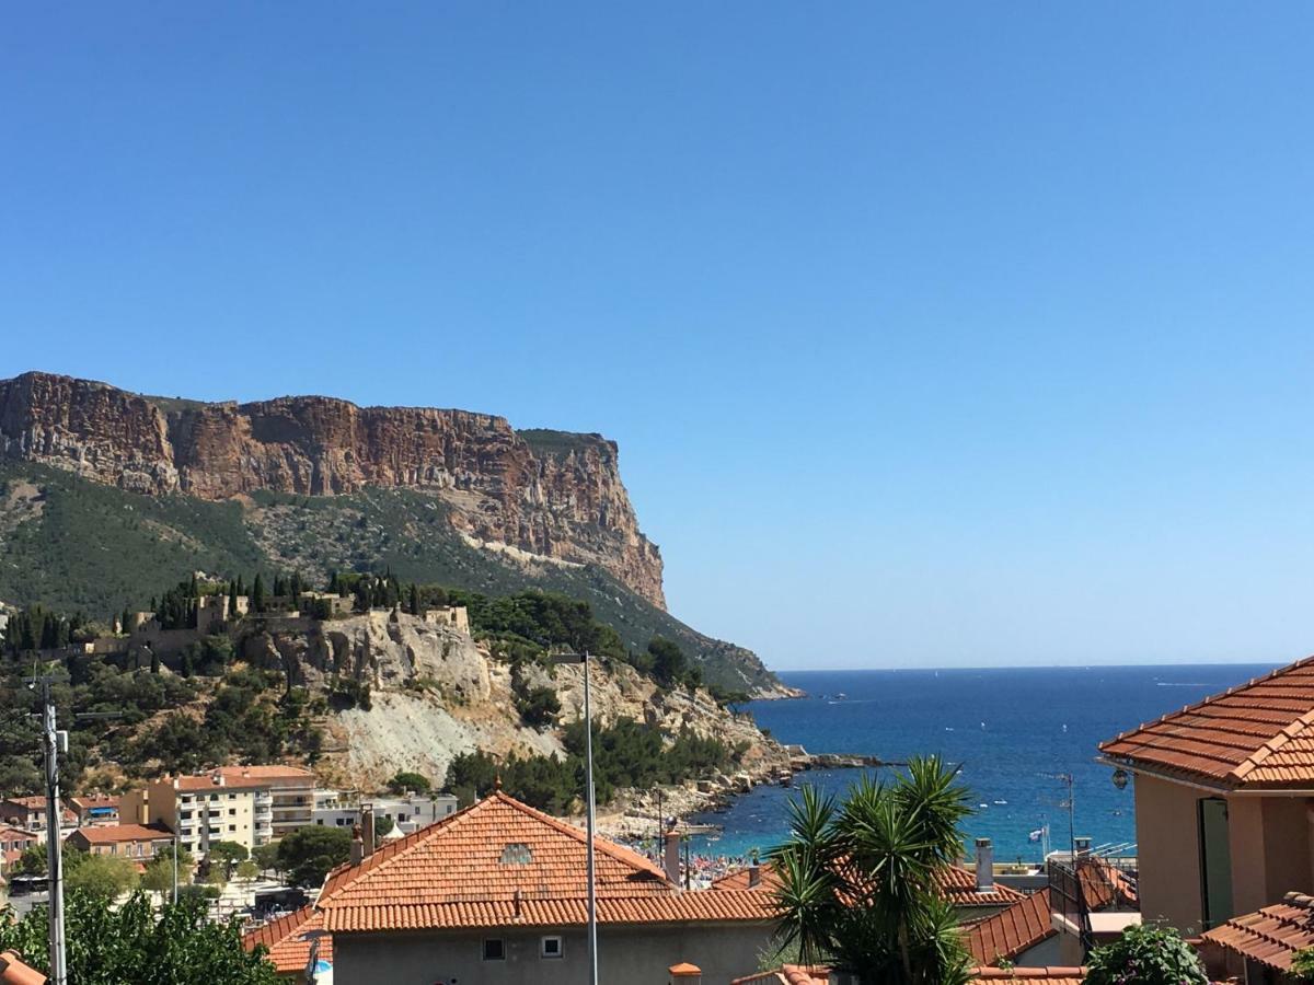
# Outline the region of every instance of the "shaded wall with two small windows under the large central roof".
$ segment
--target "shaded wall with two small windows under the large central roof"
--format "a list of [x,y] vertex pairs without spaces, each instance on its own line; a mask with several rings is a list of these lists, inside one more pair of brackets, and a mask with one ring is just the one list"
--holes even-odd
[[[543,934],[560,934],[564,956],[539,957]],[[505,961],[482,960],[484,936],[506,942]],[[666,969],[692,961],[703,982],[728,982],[757,969],[771,939],[763,923],[599,927],[598,977],[624,985],[668,985]],[[515,929],[486,934],[334,934],[334,981],[434,985],[577,985],[587,981],[583,929]]]

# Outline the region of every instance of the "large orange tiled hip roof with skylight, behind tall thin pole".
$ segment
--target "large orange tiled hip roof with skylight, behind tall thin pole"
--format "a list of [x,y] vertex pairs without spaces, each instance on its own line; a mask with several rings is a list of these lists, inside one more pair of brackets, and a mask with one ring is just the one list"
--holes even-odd
[[[587,922],[583,831],[497,792],[328,873],[334,932]],[[770,896],[681,892],[643,855],[595,839],[600,923],[769,921]]]

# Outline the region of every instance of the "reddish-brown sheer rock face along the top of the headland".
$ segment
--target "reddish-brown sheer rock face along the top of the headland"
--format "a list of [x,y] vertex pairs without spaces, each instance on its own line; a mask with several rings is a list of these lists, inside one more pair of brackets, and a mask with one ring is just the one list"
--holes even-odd
[[166,401],[25,373],[0,381],[0,454],[152,495],[415,489],[476,541],[597,563],[665,608],[661,554],[599,435],[522,435],[485,414],[327,397]]

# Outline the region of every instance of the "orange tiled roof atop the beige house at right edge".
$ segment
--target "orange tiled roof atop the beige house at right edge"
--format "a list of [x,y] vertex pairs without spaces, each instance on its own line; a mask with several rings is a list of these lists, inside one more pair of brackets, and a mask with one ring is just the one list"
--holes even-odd
[[1314,657],[1101,743],[1105,755],[1225,788],[1314,784]]

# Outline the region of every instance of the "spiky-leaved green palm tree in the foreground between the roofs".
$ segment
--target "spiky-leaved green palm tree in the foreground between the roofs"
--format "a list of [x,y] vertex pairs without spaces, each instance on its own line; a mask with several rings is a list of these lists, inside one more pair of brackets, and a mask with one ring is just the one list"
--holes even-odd
[[790,839],[771,852],[782,947],[865,982],[966,982],[957,914],[936,885],[970,813],[955,777],[930,756],[888,783],[865,777],[842,804],[804,788],[790,805]]

